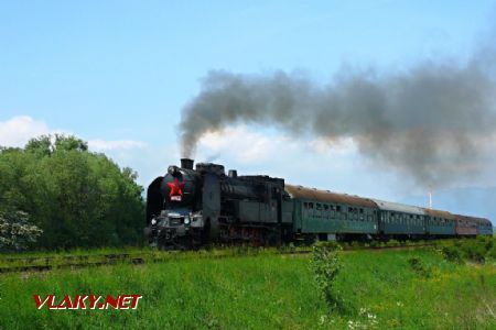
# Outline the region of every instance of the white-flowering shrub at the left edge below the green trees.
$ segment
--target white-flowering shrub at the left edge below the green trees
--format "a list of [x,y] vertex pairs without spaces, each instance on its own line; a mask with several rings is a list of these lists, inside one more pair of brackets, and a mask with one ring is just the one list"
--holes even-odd
[[0,211],[0,251],[24,250],[36,242],[42,230],[32,224],[23,211]]

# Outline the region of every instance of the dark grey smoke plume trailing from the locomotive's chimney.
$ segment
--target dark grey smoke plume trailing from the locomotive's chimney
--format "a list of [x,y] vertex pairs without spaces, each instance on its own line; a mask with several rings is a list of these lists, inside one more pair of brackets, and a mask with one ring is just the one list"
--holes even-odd
[[341,70],[328,85],[283,72],[211,72],[183,109],[183,155],[207,132],[266,124],[294,136],[351,138],[374,164],[424,187],[445,186],[482,170],[487,139],[496,136],[496,61],[488,55],[388,75]]

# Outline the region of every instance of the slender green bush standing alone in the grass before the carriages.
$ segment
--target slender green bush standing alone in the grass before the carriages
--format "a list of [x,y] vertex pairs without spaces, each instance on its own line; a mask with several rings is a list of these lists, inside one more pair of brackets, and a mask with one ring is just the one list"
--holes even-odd
[[341,300],[334,292],[335,279],[342,267],[341,251],[341,245],[335,242],[317,242],[312,248],[310,267],[317,288],[331,309],[338,307]]

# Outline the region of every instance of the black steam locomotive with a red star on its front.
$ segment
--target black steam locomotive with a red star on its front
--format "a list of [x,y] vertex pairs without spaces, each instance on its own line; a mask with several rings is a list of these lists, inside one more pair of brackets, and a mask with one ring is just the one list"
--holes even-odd
[[160,248],[207,242],[278,244],[288,239],[292,202],[284,180],[268,176],[225,175],[223,165],[181,160],[155,178],[147,194],[147,229]]

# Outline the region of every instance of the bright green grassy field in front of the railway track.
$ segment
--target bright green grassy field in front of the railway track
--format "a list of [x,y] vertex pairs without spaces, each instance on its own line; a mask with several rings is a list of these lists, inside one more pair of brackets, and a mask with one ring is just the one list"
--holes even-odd
[[[414,260],[414,262],[412,262]],[[0,275],[1,329],[496,329],[496,266],[431,250],[344,252],[339,311],[319,295],[308,255]],[[37,310],[33,295],[143,295],[137,310]]]

